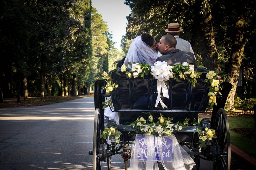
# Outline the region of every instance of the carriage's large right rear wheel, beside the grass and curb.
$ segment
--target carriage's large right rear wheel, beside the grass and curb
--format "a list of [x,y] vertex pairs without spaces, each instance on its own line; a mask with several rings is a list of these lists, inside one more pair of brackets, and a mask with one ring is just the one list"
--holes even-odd
[[214,129],[217,139],[213,145],[213,169],[230,170],[230,135],[229,122],[224,109],[219,109],[216,115]]

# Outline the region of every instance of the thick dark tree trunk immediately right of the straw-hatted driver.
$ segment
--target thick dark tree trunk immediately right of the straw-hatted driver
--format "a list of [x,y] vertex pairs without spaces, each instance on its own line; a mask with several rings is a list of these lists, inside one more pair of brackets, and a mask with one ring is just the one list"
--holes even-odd
[[208,70],[219,71],[221,81],[221,67],[218,60],[218,51],[215,44],[211,9],[202,9],[202,2],[196,1],[194,27],[197,30],[197,42],[202,56],[202,63]]

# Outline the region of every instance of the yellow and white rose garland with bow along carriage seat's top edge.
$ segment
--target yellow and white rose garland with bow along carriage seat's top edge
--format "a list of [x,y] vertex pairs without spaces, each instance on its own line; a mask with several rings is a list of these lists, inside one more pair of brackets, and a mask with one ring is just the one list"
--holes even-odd
[[[154,66],[151,67],[149,63],[143,65],[142,63],[129,62],[128,64],[129,66],[131,66],[131,69],[129,70],[127,70],[128,66],[126,66],[125,64],[121,66],[121,72],[124,72],[127,78],[137,78],[139,76],[144,78],[144,75],[148,75],[150,73],[155,79],[158,79],[158,97],[155,107],[157,107],[158,102],[161,103],[163,108],[166,107],[166,105],[162,102],[160,98],[160,91],[162,88],[163,96],[169,98],[169,95],[167,93],[168,91],[166,92],[167,87],[165,85],[170,78],[173,78],[174,80],[188,80],[188,82],[190,82],[192,86],[195,87],[197,83],[196,78],[200,78],[200,75],[202,74],[201,72],[194,70],[194,65],[191,65],[187,62],[183,62],[182,64],[177,64],[175,66],[170,66],[165,61],[157,61],[154,63]],[[121,75],[117,66],[114,66],[114,70],[116,74]],[[219,80],[216,79],[218,73],[218,71],[214,72],[213,70],[211,70],[209,71],[209,73],[206,74],[205,82],[210,82],[210,86],[208,86],[209,93],[207,94],[209,96],[209,103],[207,109],[209,109],[213,104],[217,105],[216,96],[218,94],[222,95],[221,92],[219,92],[219,89],[221,89]],[[118,84],[112,84],[111,73],[108,74],[104,72],[102,74],[102,78],[107,80],[106,86],[102,87],[103,89],[106,89],[106,91],[111,92],[114,88],[118,87]],[[104,106],[106,107],[109,105],[109,103],[110,101],[106,103],[103,102],[102,104],[104,104]]]

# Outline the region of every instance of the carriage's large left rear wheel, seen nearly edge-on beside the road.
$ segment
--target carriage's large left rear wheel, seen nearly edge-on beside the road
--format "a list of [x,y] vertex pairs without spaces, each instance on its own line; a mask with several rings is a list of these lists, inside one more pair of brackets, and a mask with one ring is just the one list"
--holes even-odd
[[95,109],[94,133],[93,133],[93,170],[101,170],[101,115],[99,108]]

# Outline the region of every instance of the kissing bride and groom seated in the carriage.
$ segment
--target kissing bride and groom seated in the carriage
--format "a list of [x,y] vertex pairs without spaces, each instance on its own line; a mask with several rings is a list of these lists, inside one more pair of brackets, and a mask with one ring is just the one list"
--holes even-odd
[[[187,62],[197,67],[194,54],[175,49],[176,44],[177,40],[172,35],[163,35],[159,43],[156,43],[154,37],[143,33],[133,39],[126,57],[120,60],[117,66],[121,67],[125,63],[130,68],[128,62],[141,62],[143,65],[149,63],[152,66],[156,61],[166,61],[171,66]],[[163,56],[159,57],[157,50]]]

